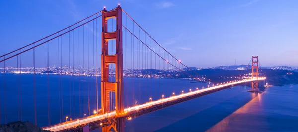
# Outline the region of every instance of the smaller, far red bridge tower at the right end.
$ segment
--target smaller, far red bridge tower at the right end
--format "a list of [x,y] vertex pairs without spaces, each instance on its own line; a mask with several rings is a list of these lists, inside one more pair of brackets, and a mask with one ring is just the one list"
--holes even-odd
[[[258,79],[259,74],[259,60],[258,56],[252,56],[252,65],[251,65],[251,78]],[[259,91],[258,81],[251,82],[251,91]]]

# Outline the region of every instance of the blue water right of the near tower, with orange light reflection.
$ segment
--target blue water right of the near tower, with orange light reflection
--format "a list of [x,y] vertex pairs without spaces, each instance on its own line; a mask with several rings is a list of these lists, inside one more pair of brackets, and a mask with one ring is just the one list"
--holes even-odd
[[[298,132],[298,85],[270,87],[261,94],[246,92],[248,89],[249,87],[245,86],[226,89],[145,115],[146,118],[138,117],[132,120],[132,123],[127,123],[129,129],[126,130],[129,130],[128,132]],[[177,112],[177,109],[181,111]],[[168,116],[165,113],[172,115]],[[152,118],[150,117],[152,115],[162,118]],[[142,129],[141,126],[145,125],[141,123],[142,121],[150,127]],[[139,124],[140,127],[133,127],[130,124]]]

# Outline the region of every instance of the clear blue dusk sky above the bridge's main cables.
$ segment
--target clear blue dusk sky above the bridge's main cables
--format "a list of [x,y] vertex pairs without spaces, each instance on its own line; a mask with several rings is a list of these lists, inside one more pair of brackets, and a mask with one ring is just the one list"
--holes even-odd
[[118,3],[186,66],[298,67],[298,0],[1,0],[0,55]]

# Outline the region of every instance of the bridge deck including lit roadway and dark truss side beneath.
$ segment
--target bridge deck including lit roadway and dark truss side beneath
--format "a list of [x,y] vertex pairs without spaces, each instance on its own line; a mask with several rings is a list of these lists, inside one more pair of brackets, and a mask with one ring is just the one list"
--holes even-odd
[[[259,77],[258,80],[265,80],[265,77]],[[159,100],[154,100],[147,102],[145,104],[125,108],[125,113],[122,114],[122,117],[125,117],[127,120],[130,120],[134,117],[138,117],[153,111],[157,111],[181,102],[185,102],[187,100],[191,100],[200,96],[204,96],[210,93],[214,93],[220,90],[224,90],[226,88],[229,88],[231,86],[235,85],[242,85],[243,83],[248,83],[252,81],[256,81],[257,79],[243,79],[240,81],[234,81],[230,83],[225,83],[221,85],[216,85],[204,89],[194,89],[194,91],[190,91],[187,93],[182,93],[180,95],[174,95],[167,98],[162,98]],[[43,127],[44,130],[50,130],[54,132],[64,132],[64,131],[78,131],[82,132],[83,127],[87,126],[90,127],[90,130],[94,130],[100,127],[109,126],[115,123],[115,116],[116,112],[109,112],[106,114],[97,114],[97,115],[91,115],[84,118],[75,119],[72,121],[67,121],[59,124],[54,124],[51,126]],[[119,116],[119,115],[118,115]]]

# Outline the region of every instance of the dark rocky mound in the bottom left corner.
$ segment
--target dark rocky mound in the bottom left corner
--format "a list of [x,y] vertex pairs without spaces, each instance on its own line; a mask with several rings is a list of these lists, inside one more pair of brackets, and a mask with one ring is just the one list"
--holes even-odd
[[8,124],[0,125],[0,132],[51,132],[48,130],[43,130],[38,126],[30,123],[29,121],[25,122],[10,122]]

